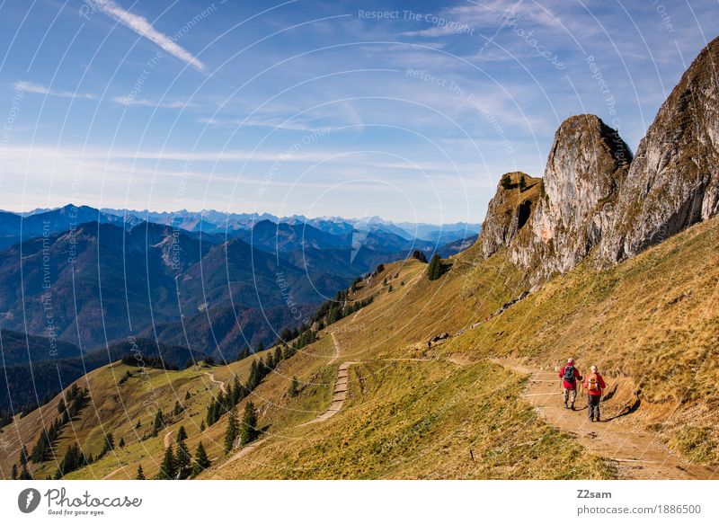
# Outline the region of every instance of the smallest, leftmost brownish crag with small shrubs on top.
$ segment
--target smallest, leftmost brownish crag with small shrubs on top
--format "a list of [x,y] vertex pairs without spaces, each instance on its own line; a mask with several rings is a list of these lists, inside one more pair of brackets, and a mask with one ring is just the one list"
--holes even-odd
[[502,175],[497,192],[490,200],[479,242],[484,258],[510,245],[528,219],[539,197],[541,179],[526,173]]

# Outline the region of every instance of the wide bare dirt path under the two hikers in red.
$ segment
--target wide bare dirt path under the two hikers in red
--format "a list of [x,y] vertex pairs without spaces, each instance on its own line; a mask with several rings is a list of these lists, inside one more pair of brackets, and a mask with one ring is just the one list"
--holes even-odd
[[716,471],[688,464],[680,457],[672,455],[651,433],[634,429],[629,424],[621,424],[616,420],[589,422],[587,401],[581,394],[577,395],[577,411],[564,409],[560,381],[555,372],[530,368],[510,360],[493,362],[503,368],[528,375],[529,383],[523,396],[535,406],[537,413],[555,428],[575,435],[590,453],[615,461],[620,478],[717,478]]

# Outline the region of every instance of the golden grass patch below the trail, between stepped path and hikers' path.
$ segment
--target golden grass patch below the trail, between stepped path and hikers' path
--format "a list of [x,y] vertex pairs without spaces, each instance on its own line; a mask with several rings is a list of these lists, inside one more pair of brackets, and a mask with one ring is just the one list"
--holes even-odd
[[[372,361],[349,404],[208,476],[221,478],[611,478],[608,463],[541,422],[522,384],[486,362]],[[472,455],[470,455],[470,450]],[[474,456],[474,460],[473,457]]]

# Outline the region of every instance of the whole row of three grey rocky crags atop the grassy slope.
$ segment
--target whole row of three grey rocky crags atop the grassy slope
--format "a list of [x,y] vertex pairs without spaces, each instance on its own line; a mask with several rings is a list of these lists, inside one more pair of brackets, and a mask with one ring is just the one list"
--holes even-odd
[[506,248],[530,281],[588,257],[620,262],[719,215],[719,39],[682,76],[634,159],[616,130],[579,115],[557,130],[542,181],[528,178],[538,198],[522,196],[520,175],[502,179],[479,242],[485,257]]

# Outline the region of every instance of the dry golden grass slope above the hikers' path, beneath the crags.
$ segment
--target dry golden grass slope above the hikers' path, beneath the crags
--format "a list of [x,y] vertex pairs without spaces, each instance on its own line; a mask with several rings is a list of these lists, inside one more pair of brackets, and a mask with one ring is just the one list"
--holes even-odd
[[582,265],[442,347],[527,358],[554,369],[573,356],[638,394],[640,422],[685,457],[719,464],[719,221],[693,226],[608,271]]

